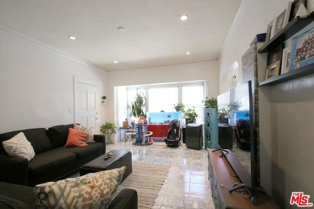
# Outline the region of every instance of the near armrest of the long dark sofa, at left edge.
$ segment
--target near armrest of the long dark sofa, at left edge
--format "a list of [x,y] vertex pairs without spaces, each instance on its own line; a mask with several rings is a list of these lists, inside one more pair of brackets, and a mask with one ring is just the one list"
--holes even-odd
[[28,185],[28,161],[26,158],[0,155],[0,181]]

